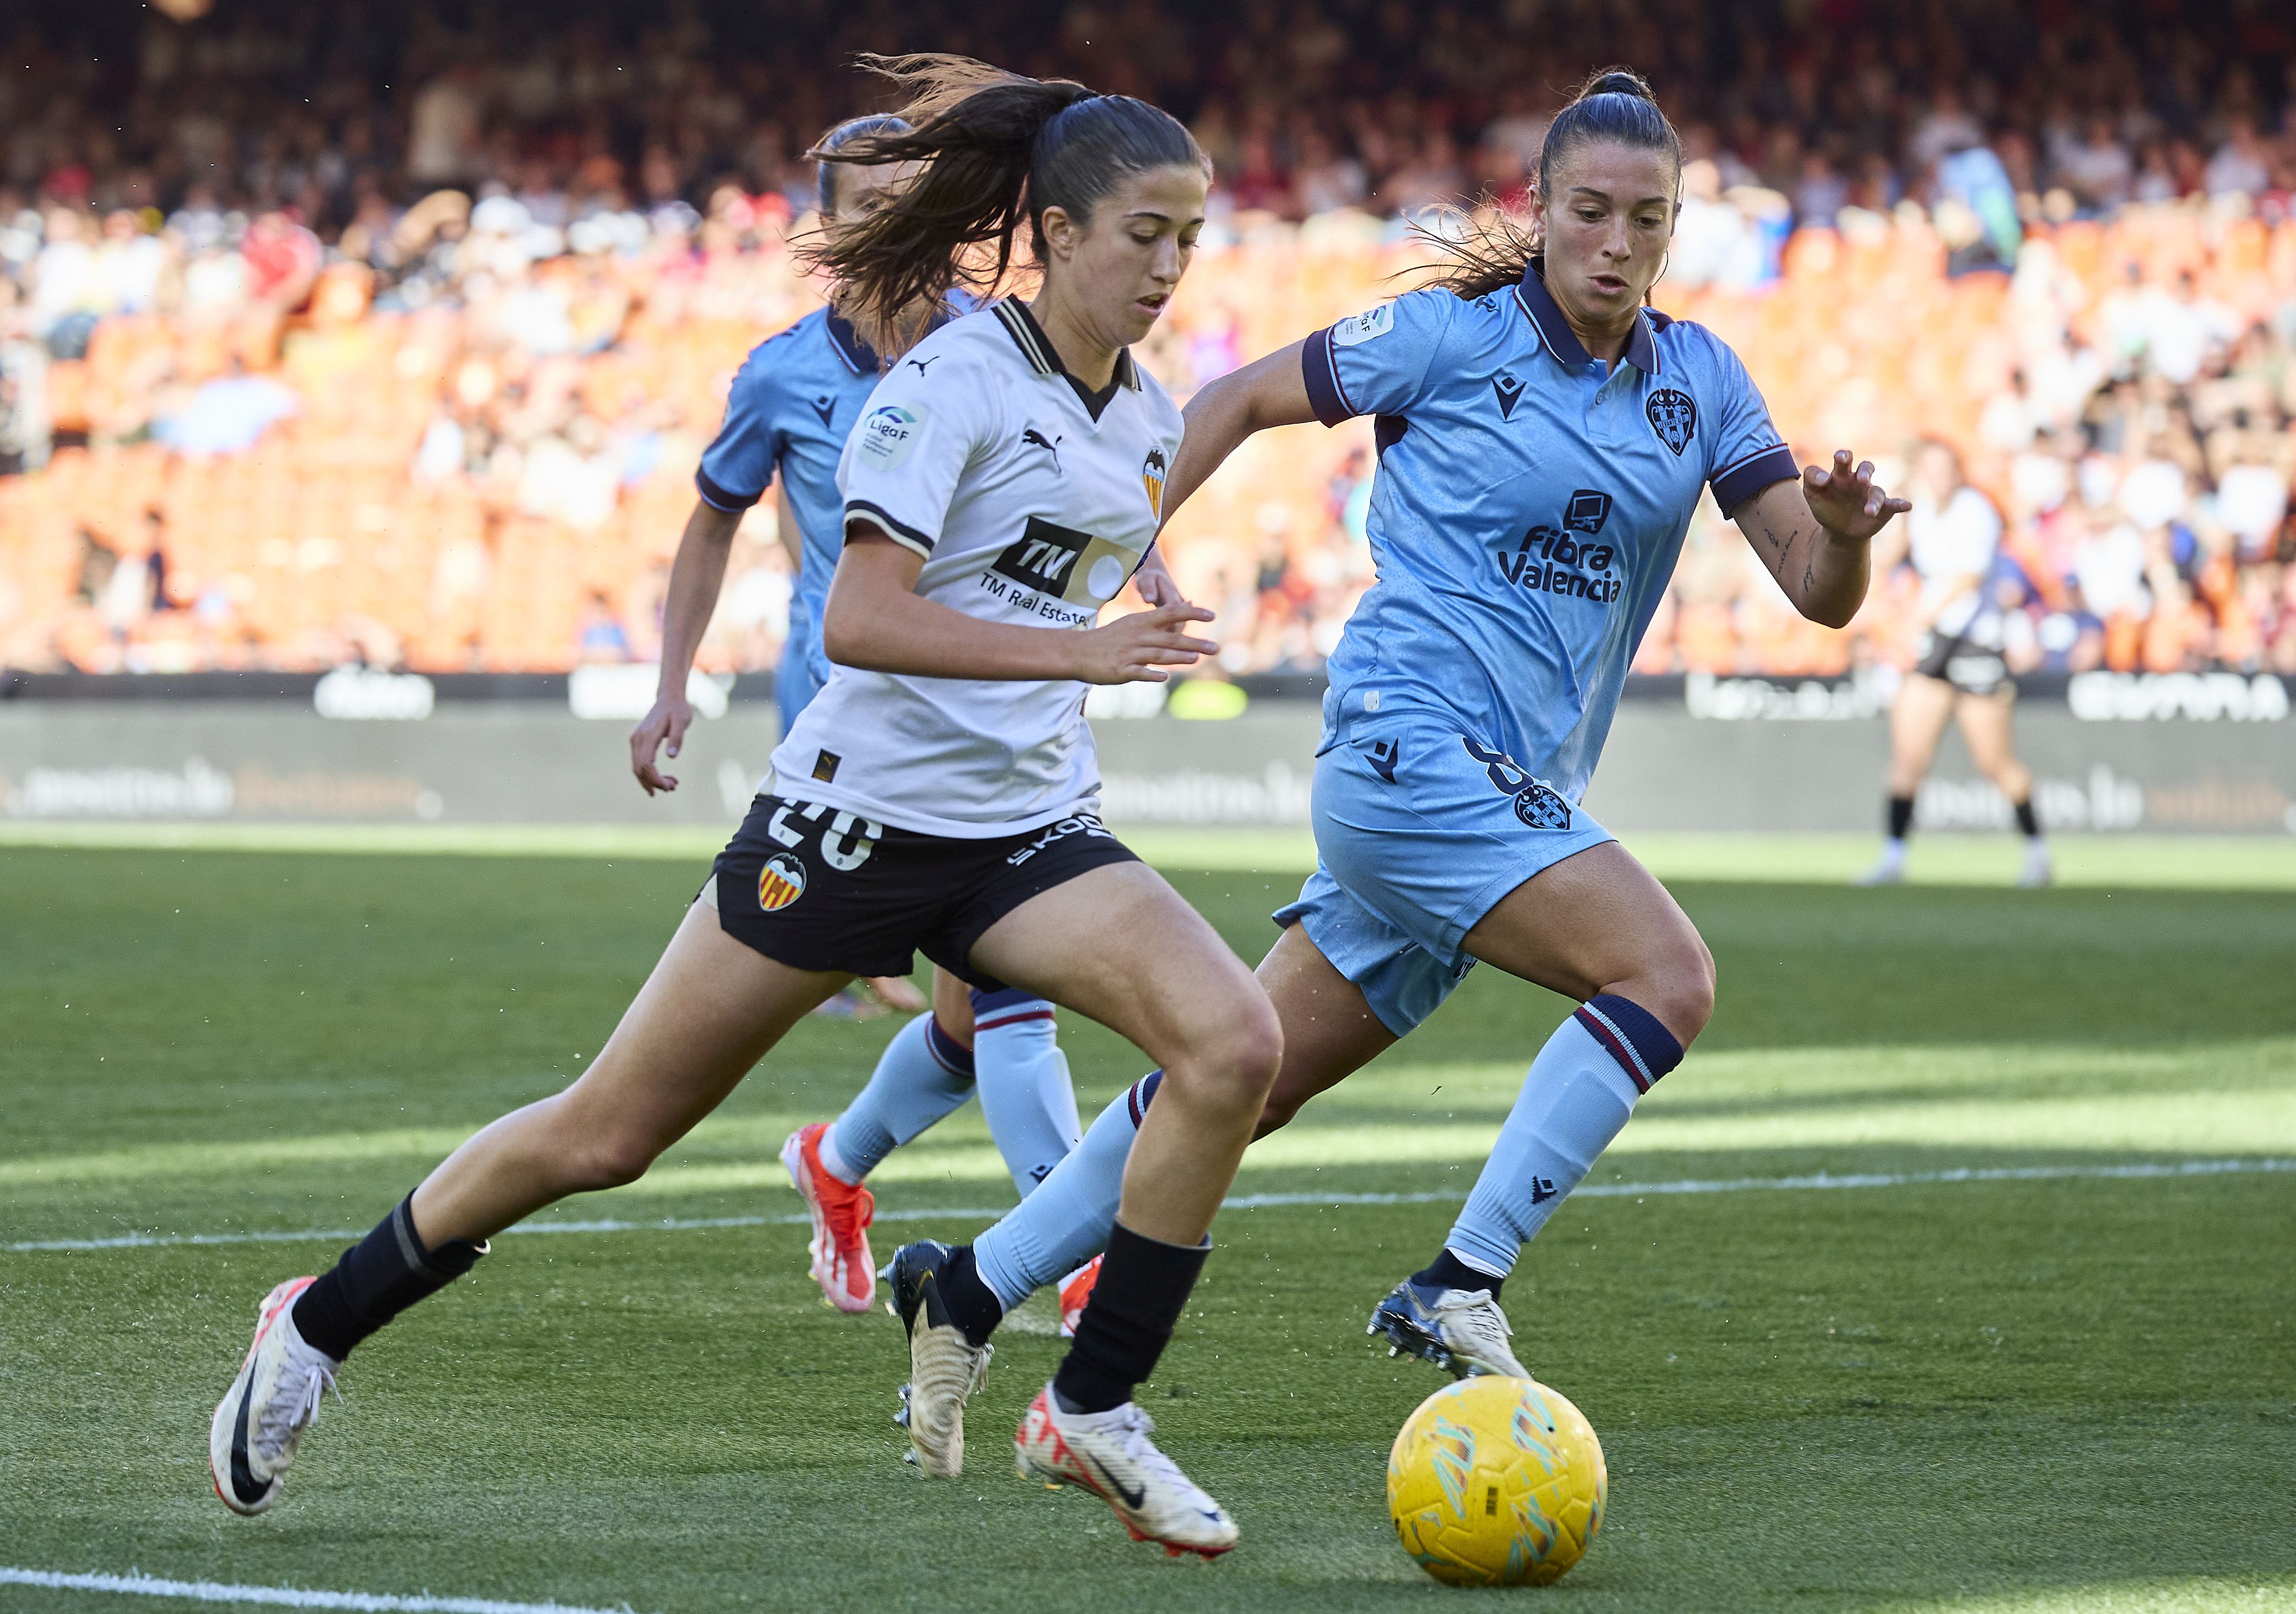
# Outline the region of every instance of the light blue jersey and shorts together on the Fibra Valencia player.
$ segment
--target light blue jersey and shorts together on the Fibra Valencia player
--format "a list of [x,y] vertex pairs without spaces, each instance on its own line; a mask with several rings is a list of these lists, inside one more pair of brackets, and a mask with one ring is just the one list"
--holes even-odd
[[1699,491],[1798,475],[1738,356],[1635,315],[1605,372],[1536,271],[1412,292],[1318,331],[1325,425],[1378,416],[1378,583],[1329,661],[1300,923],[1398,1035],[1467,973],[1467,932],[1609,840],[1580,797]]

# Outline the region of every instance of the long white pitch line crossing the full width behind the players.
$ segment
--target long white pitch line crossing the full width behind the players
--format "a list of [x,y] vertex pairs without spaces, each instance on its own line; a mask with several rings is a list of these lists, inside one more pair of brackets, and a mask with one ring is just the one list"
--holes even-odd
[[[2115,1182],[2128,1178],[2223,1178],[2259,1171],[2296,1171],[2296,1159],[2174,1159],[2126,1166],[1961,1166],[1954,1171],[1818,1171],[1800,1178],[1674,1178],[1669,1182],[1589,1182],[1573,1198],[1642,1198],[1646,1194],[1754,1194],[1754,1192],[1823,1192],[1869,1187],[1924,1187],[1940,1182]],[[1235,1194],[1221,1210],[1267,1210],[1277,1205],[1456,1205],[1465,1194]],[[1010,1205],[928,1205],[921,1210],[879,1210],[877,1221],[994,1221]],[[510,1233],[696,1233],[703,1228],[781,1228],[806,1226],[804,1215],[783,1217],[661,1217],[657,1221],[528,1221]],[[177,1244],[317,1244],[365,1237],[363,1228],[305,1228],[301,1233],[119,1233],[115,1237],[39,1237],[0,1244],[0,1254],[25,1256],[51,1249],[165,1249]],[[507,1235],[498,1235],[507,1237]]]

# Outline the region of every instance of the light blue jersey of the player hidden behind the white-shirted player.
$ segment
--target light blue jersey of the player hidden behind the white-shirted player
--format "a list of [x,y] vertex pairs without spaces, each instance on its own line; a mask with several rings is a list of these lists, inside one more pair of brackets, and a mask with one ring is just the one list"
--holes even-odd
[[783,732],[829,680],[822,602],[845,549],[838,457],[877,381],[870,344],[833,310],[813,310],[751,349],[726,395],[726,422],[693,475],[709,505],[748,510],[781,471],[797,512],[801,562],[790,595],[790,638],[774,680]]

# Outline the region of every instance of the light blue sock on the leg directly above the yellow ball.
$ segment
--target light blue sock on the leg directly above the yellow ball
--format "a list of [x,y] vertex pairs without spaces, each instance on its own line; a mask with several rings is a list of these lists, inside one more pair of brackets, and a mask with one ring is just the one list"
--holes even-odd
[[1674,1070],[1683,1045],[1623,996],[1591,999],[1531,1061],[1483,1175],[1444,1249],[1504,1279],[1593,1162],[1619,1136],[1635,1100]]

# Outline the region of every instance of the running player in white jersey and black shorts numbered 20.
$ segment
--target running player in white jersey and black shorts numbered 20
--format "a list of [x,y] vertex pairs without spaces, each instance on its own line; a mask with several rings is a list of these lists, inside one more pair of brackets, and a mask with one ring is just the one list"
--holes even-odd
[[[1095,627],[1155,542],[1180,413],[1127,351],[1203,225],[1208,165],[1169,115],[1072,83],[909,57],[912,133],[854,140],[914,184],[820,248],[877,315],[937,303],[980,243],[1001,280],[1026,225],[1031,303],[999,301],[912,349],[845,448],[845,553],[824,613],[838,664],[783,746],[703,900],[606,1049],[556,1097],[464,1143],[319,1279],[262,1306],[216,1407],[209,1460],[241,1513],[271,1506],[349,1350],[487,1254],[487,1237],[638,1178],[815,1003],[921,948],[980,987],[1022,985],[1164,1063],[1100,1286],[1024,1423],[1022,1458],[1102,1495],[1139,1536],[1217,1554],[1235,1524],[1155,1449],[1132,1403],[1171,1338],[1205,1228],[1265,1104],[1281,1035],[1212,928],[1095,817],[1084,684],[1159,680],[1217,650],[1162,606]],[[939,1322],[937,1270],[895,1272],[930,1410],[987,1350]],[[928,1474],[962,1435],[918,1417]]]

